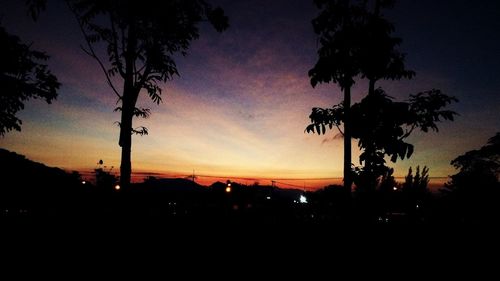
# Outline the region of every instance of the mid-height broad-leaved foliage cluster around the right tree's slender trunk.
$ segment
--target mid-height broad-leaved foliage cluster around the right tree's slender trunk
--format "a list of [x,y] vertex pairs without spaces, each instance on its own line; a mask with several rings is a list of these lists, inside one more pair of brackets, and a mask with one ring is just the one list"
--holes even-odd
[[[385,171],[382,168],[385,156],[389,156],[392,162],[409,158],[414,147],[405,139],[416,128],[423,132],[429,128],[437,131],[438,122],[453,121],[456,113],[443,108],[454,101],[457,99],[439,90],[411,95],[407,102],[393,101],[381,88],[367,95],[351,108],[352,137],[358,139],[362,150],[361,164],[381,175]],[[344,122],[342,112],[342,104],[327,109],[314,108],[306,132],[325,134],[327,127],[339,127]]]

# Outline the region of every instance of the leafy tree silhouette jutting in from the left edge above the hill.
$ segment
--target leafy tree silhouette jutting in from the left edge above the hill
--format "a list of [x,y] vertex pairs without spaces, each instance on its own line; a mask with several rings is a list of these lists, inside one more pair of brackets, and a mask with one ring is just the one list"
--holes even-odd
[[60,83],[41,63],[48,58],[0,26],[0,136],[21,131],[22,121],[16,114],[24,109],[24,102],[41,98],[50,104],[57,97]]

